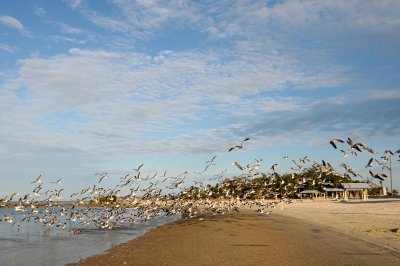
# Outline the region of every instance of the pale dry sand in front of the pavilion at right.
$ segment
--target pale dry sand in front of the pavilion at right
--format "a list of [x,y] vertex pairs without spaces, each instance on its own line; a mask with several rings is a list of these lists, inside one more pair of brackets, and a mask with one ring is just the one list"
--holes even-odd
[[391,231],[400,228],[400,199],[295,200],[294,204],[280,204],[276,213],[400,251],[400,229]]

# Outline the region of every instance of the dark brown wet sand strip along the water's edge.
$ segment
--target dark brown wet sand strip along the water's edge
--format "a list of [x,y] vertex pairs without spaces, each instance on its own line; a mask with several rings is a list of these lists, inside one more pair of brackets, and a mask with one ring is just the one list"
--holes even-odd
[[293,206],[173,222],[78,265],[400,265],[400,250],[295,217]]

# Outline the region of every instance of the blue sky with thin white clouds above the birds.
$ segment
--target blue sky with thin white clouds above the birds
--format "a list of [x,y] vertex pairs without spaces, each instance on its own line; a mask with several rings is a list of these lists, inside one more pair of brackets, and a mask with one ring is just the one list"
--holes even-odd
[[[194,182],[304,156],[370,178],[371,156],[400,149],[399,14],[397,0],[1,0],[0,196],[38,175],[71,192],[140,164]],[[334,137],[376,154],[343,158]]]

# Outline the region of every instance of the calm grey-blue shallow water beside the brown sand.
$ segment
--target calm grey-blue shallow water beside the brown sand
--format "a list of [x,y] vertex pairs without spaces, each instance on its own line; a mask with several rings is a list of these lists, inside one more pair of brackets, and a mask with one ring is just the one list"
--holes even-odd
[[[178,219],[160,216],[146,222],[126,224],[119,228],[79,228],[73,234],[68,226],[43,226],[43,223],[23,221],[23,213],[0,208],[0,217],[13,216],[13,222],[0,222],[0,265],[65,265],[77,262],[111,247],[137,238],[152,228]],[[12,224],[18,221],[20,226]]]

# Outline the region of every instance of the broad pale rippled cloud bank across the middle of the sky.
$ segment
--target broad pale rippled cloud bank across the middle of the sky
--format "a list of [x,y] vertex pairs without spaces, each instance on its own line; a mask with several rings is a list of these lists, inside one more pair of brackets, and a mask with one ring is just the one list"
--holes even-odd
[[[307,87],[319,77],[314,86],[324,88],[340,85],[340,78],[332,83],[324,69],[309,73],[306,65],[292,68],[295,61],[278,55],[258,54],[248,62],[226,61],[225,56],[165,51],[152,57],[74,48],[67,54],[25,59],[14,81],[14,90],[25,91],[14,112],[22,118],[14,119],[34,129],[30,134],[37,135],[27,139],[37,139],[36,145],[43,147],[62,142],[87,151],[102,146],[110,153],[197,153],[222,147],[226,139],[240,139],[245,131],[271,140],[282,132],[290,138],[316,130],[347,131],[346,125],[355,121],[357,127],[369,128],[387,109],[362,120],[370,109],[364,106],[377,99],[350,101],[346,93],[342,101],[284,97],[280,94],[289,83]],[[382,107],[391,104],[380,100],[376,104]],[[64,132],[51,117],[67,121],[59,122]],[[186,128],[193,124],[198,126]],[[41,141],[43,133],[52,137]],[[219,144],[204,146],[211,138]]]

